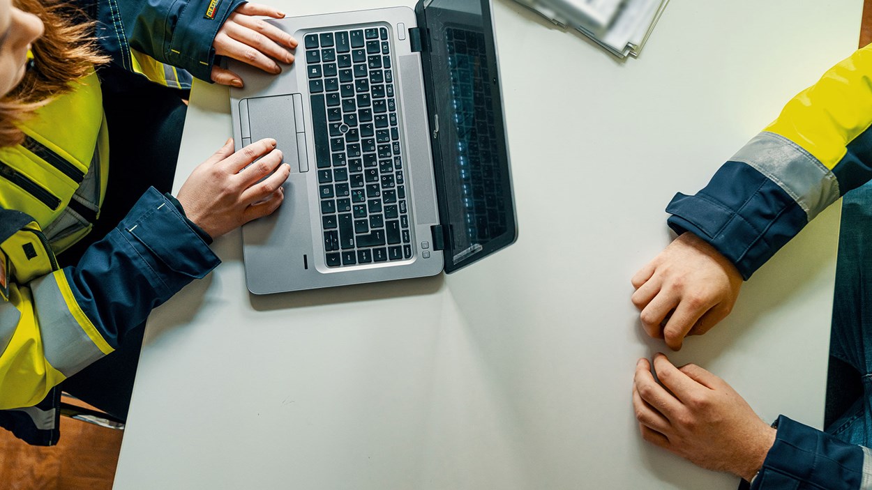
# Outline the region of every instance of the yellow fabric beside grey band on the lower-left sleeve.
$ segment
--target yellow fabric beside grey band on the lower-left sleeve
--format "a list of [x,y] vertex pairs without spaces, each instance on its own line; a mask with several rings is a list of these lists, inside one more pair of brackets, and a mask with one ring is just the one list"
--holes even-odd
[[52,387],[66,379],[45,360],[30,291],[12,283],[10,303],[21,317],[12,340],[0,355],[0,410],[37,405]]

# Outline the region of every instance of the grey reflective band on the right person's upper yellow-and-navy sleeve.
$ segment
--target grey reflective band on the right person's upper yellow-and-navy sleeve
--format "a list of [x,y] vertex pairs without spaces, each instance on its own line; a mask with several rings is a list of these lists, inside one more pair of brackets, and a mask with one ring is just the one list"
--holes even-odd
[[730,160],[746,163],[773,180],[806,212],[808,221],[839,199],[835,175],[811,153],[779,134],[754,136]]

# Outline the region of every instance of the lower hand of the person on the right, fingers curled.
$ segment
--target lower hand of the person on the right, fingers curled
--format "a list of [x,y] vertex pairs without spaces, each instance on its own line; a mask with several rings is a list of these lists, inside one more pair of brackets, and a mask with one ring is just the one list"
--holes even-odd
[[677,368],[663,354],[654,357],[654,367],[663,386],[648,359],[639,359],[633,378],[643,439],[697,466],[750,481],[775,443],[775,429],[711,372],[694,364]]

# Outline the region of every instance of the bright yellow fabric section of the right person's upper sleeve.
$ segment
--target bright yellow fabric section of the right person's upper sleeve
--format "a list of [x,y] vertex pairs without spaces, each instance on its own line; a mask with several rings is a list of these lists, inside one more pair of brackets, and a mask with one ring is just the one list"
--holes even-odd
[[780,134],[829,168],[872,125],[872,46],[855,51],[800,92],[764,131]]

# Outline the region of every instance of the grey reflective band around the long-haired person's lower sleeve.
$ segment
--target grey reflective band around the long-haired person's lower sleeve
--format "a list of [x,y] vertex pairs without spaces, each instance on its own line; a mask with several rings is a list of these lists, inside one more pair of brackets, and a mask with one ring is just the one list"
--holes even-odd
[[[59,274],[63,274],[60,272]],[[104,354],[68,310],[54,274],[31,282],[45,360],[69,378]]]

